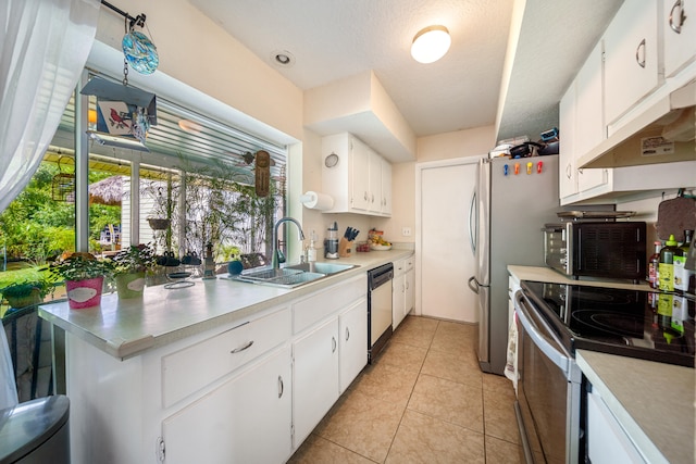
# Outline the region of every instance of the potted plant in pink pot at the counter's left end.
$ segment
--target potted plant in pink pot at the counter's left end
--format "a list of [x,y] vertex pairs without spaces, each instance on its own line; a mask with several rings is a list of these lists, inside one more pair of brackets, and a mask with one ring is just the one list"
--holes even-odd
[[113,263],[98,260],[91,253],[76,252],[53,263],[50,269],[65,280],[70,308],[80,310],[101,303],[104,276],[111,275]]

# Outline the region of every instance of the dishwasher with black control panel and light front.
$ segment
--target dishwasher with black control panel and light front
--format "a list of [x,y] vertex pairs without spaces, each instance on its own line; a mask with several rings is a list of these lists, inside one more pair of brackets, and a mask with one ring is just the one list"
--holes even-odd
[[394,264],[368,271],[368,362],[372,363],[391,337]]

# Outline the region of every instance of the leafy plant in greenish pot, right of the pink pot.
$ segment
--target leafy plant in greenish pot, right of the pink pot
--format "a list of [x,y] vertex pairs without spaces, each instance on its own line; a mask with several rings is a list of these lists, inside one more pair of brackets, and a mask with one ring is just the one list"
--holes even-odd
[[113,258],[114,278],[120,298],[142,297],[145,273],[156,264],[154,250],[148,244],[132,244]]

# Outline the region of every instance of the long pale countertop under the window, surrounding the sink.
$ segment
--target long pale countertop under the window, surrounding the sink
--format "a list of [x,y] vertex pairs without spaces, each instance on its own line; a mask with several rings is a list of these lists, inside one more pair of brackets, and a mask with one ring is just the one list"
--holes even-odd
[[121,300],[103,294],[101,305],[71,310],[67,301],[39,306],[39,315],[114,358],[126,359],[145,350],[200,334],[215,326],[249,317],[300,298],[382,264],[409,256],[411,249],[355,253],[331,263],[357,264],[343,273],[284,289],[229,280],[194,279],[188,288],[147,287],[142,299]]

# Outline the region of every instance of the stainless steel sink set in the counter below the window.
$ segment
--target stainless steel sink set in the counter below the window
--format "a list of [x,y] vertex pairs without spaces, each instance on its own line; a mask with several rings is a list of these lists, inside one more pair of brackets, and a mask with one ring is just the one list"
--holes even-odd
[[231,277],[233,280],[271,287],[295,288],[323,277],[358,267],[356,264],[301,263],[279,269],[249,269]]

